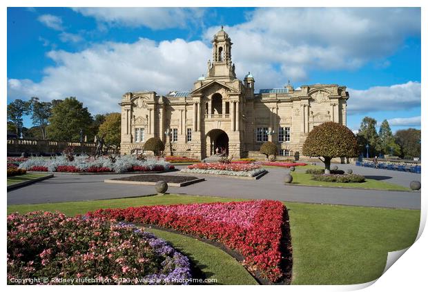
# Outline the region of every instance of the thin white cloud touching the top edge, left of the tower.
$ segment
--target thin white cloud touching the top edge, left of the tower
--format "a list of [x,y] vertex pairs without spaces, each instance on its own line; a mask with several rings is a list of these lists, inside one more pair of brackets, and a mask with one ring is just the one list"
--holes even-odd
[[188,21],[202,17],[198,8],[73,8],[86,17],[113,26],[146,26],[154,30],[184,28]]

